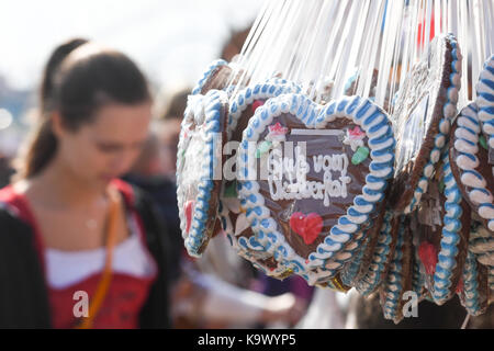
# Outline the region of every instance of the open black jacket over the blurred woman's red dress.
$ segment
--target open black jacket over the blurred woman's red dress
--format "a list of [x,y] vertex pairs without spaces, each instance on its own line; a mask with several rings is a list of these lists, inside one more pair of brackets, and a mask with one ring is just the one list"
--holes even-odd
[[[135,186],[127,188],[131,194],[124,194],[125,204],[141,217],[158,265],[139,327],[170,328],[167,229],[148,195]],[[32,224],[0,202],[0,328],[52,328],[50,319],[48,288]]]

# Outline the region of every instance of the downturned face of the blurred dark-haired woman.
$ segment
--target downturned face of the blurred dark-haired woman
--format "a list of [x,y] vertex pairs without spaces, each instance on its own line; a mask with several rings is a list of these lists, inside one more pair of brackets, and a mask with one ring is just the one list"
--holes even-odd
[[109,104],[76,132],[56,133],[58,157],[70,176],[99,188],[126,173],[147,138],[151,103]]

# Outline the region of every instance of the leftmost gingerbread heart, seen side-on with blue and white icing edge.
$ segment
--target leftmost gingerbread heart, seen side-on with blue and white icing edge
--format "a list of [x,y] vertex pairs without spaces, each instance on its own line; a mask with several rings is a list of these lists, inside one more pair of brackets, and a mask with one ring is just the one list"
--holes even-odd
[[[226,140],[227,95],[211,90],[190,95],[177,154],[177,201],[189,254],[199,257],[214,234],[222,149]],[[218,167],[220,166],[220,167]]]

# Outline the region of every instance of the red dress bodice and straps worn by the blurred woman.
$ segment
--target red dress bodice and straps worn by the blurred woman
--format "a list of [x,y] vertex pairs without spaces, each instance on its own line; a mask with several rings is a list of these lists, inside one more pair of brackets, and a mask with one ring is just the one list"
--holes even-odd
[[[127,204],[131,204],[130,207],[132,208],[132,188],[127,183],[120,180],[113,181],[112,185],[116,186],[122,192],[125,202]],[[29,223],[33,228],[36,250],[45,271],[45,283],[48,288],[52,310],[52,326],[54,328],[63,329],[76,327],[79,320],[76,315],[78,316],[78,313],[83,310],[81,308],[81,302],[83,298],[76,293],[86,292],[90,304],[91,297],[93,296],[101,280],[102,272],[92,274],[85,280],[65,288],[50,287],[46,282],[46,264],[43,254],[45,248],[43,245],[40,228],[29,207],[26,199],[21,194],[16,194],[13,191],[12,186],[7,186],[0,191],[0,202],[7,204],[10,210],[12,210],[21,219]],[[138,223],[138,235],[144,247],[147,250],[147,254],[149,254],[149,257],[151,258],[145,241],[143,229],[144,227],[141,222],[141,217],[135,212],[132,212],[132,215]],[[92,327],[97,329],[138,328],[139,312],[147,299],[150,286],[156,279],[156,270],[155,274],[148,278],[137,278],[125,273],[113,272],[109,291],[106,293],[106,296],[104,297],[100,310],[98,312],[98,315],[93,319]]]

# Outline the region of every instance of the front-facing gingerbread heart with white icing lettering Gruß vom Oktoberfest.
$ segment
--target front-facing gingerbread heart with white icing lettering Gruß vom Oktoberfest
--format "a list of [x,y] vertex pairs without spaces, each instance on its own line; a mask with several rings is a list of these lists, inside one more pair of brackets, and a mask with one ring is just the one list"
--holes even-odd
[[[271,148],[257,158],[267,140]],[[239,196],[258,241],[302,276],[315,269],[336,275],[383,199],[394,144],[388,115],[368,99],[327,105],[302,94],[268,100],[244,131],[237,165]],[[368,157],[353,159],[361,149]],[[323,220],[310,245],[290,226],[296,212]]]

